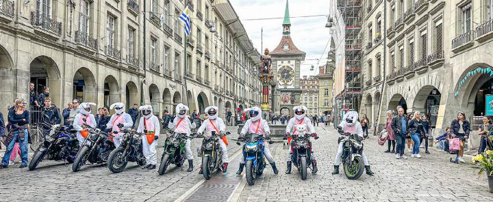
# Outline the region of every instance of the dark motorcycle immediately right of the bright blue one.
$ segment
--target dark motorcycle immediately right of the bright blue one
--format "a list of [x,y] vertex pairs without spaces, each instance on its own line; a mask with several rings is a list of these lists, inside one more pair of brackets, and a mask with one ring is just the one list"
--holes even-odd
[[[307,169],[313,170],[310,135],[305,132],[299,132],[298,134],[290,134],[290,136],[292,137],[291,147],[293,149],[291,161],[300,172],[301,179],[305,180],[307,178]],[[318,136],[315,139],[318,139]]]

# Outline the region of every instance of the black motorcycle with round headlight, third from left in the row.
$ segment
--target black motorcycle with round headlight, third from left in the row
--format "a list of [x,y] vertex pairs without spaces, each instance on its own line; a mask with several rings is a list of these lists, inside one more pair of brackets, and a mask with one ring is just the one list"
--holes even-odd
[[121,130],[123,132],[120,147],[114,149],[108,156],[108,169],[113,173],[120,173],[127,167],[128,162],[137,162],[142,167],[146,159],[142,153],[142,133],[135,130]]

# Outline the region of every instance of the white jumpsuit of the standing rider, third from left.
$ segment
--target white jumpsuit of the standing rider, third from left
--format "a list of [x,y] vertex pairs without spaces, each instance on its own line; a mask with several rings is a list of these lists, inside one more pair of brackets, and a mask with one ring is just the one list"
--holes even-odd
[[[137,128],[137,132],[144,132],[144,119],[145,119],[145,128],[146,130],[153,131],[155,136],[160,135],[160,123],[159,119],[155,115],[151,115],[149,119],[146,119],[145,117],[140,117],[139,120],[139,126]],[[147,141],[147,136],[142,135],[142,153],[144,154],[146,158],[147,164],[157,164],[157,152],[156,152],[156,144],[157,141],[152,141],[152,143],[149,145],[149,142]]]

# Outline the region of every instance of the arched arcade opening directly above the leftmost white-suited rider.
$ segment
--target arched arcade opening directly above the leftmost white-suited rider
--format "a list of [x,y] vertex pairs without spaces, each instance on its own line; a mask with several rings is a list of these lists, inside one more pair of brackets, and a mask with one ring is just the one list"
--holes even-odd
[[79,68],[73,77],[73,98],[79,102],[97,102],[97,83],[88,68]]

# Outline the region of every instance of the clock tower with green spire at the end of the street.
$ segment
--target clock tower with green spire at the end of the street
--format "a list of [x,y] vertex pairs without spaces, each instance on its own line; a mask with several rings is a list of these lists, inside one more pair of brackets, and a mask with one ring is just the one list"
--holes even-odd
[[275,87],[270,99],[273,113],[294,115],[292,107],[300,104],[300,66],[301,61],[305,60],[306,53],[296,48],[292,41],[288,0],[286,0],[282,27],[281,42],[270,53],[275,78]]

